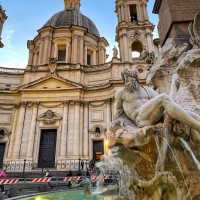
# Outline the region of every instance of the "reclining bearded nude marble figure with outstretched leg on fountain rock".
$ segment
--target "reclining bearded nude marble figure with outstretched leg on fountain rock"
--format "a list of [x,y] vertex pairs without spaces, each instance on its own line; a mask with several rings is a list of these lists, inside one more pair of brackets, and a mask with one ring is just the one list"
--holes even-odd
[[[119,89],[115,95],[115,122],[124,123],[128,120],[129,123],[125,123],[126,125],[131,126],[132,122],[133,126],[142,128],[159,123],[166,112],[173,119],[200,132],[200,117],[197,114],[186,112],[168,94],[158,94],[151,87],[140,86],[135,70],[122,71],[122,79],[125,87]],[[180,84],[179,79],[174,82],[172,94]],[[124,114],[125,117],[121,117]]]

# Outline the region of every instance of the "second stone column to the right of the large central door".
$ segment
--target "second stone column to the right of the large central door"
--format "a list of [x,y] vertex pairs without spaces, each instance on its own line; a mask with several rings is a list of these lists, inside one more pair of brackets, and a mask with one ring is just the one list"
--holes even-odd
[[73,156],[79,156],[80,101],[75,101]]

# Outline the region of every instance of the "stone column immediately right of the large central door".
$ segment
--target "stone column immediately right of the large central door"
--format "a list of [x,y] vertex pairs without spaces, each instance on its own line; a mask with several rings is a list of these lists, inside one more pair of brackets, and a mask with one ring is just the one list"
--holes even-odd
[[61,131],[61,141],[60,141],[60,157],[66,158],[67,153],[67,128],[68,128],[68,105],[69,102],[65,101],[63,103],[63,122]]

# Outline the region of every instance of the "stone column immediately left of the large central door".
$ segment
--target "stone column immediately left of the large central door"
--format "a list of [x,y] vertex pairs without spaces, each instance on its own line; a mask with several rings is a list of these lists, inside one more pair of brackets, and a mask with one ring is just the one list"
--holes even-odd
[[35,141],[35,130],[36,130],[36,123],[37,123],[37,113],[38,113],[38,102],[34,102],[33,104],[33,112],[31,117],[31,126],[29,132],[29,139],[28,139],[28,146],[27,146],[27,158],[33,158],[33,146]]

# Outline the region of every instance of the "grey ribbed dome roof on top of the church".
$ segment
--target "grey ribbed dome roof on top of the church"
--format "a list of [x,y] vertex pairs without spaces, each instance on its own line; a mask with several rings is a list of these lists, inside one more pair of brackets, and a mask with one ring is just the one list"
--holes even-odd
[[65,10],[53,15],[43,26],[43,28],[51,26],[55,28],[70,27],[72,25],[87,28],[88,32],[100,37],[99,31],[95,24],[79,11]]

